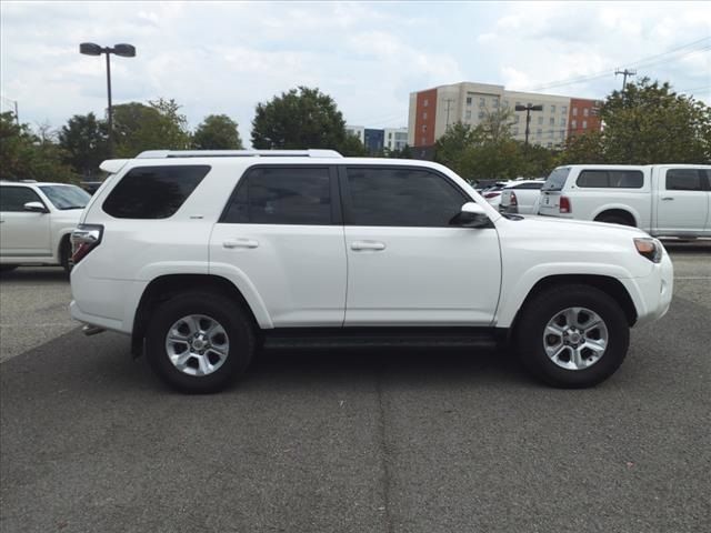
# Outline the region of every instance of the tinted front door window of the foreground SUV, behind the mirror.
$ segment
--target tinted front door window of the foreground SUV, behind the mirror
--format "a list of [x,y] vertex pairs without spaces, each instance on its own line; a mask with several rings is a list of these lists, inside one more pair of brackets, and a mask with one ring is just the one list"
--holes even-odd
[[470,201],[424,170],[348,169],[351,225],[448,227]]

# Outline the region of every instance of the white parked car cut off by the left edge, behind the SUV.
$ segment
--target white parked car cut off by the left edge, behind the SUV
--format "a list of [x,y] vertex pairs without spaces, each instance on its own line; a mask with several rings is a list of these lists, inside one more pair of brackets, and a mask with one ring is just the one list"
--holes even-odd
[[0,270],[71,265],[69,238],[91,197],[66,183],[0,182]]

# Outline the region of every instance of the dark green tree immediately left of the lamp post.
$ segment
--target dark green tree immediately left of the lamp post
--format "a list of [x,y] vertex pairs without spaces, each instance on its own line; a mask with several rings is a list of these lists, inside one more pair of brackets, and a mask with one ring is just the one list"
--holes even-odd
[[110,158],[108,125],[93,113],[74,114],[59,132],[59,145],[66,153],[64,163],[84,180],[100,175],[99,164]]

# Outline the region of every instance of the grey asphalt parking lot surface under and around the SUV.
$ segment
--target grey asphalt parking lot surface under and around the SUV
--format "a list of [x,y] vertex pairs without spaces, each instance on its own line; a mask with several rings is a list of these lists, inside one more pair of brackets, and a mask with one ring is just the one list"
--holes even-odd
[[504,353],[273,352],[167,391],[81,334],[59,269],[0,280],[0,531],[708,532],[711,243],[600,386]]

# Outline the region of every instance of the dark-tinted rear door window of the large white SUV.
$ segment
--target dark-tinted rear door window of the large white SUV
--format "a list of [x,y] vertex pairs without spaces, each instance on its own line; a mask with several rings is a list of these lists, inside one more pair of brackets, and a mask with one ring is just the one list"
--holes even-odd
[[240,181],[222,222],[329,225],[329,169],[254,169]]

